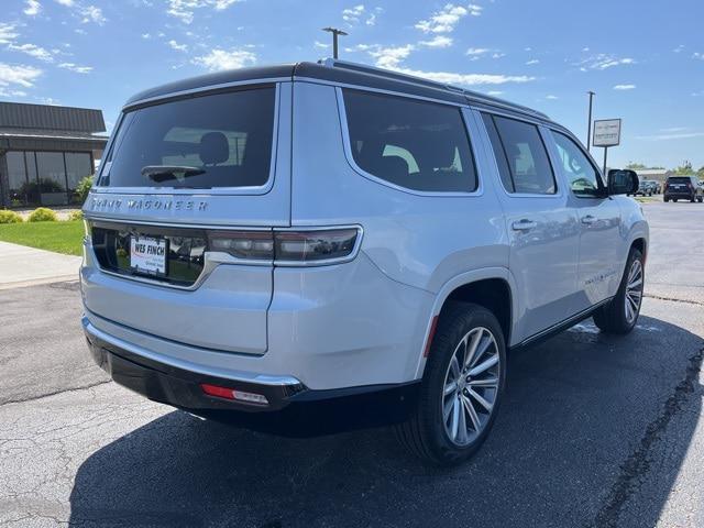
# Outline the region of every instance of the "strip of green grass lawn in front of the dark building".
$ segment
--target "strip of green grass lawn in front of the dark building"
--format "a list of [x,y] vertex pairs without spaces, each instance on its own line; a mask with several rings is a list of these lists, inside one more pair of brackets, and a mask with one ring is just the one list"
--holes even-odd
[[67,255],[81,255],[84,222],[23,222],[0,226],[0,241]]

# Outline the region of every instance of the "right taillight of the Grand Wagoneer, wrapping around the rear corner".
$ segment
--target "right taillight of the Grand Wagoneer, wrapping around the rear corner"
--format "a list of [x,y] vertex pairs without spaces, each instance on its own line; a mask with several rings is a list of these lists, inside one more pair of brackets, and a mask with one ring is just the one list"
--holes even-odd
[[280,266],[334,264],[354,256],[360,228],[274,231],[213,231],[210,251],[245,261],[273,261]]

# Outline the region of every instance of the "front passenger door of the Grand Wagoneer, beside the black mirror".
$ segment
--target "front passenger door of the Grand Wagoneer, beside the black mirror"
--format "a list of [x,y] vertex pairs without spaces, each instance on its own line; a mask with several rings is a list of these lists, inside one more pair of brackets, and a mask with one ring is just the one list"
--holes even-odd
[[607,196],[600,170],[581,145],[564,131],[550,130],[553,165],[568,185],[568,206],[580,226],[578,287],[580,308],[586,309],[616,294],[623,272],[620,208]]

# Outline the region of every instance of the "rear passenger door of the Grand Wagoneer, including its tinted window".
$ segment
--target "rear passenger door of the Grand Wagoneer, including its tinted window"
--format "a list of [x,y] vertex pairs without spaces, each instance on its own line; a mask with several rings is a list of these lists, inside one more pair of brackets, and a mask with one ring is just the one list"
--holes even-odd
[[516,344],[576,311],[580,230],[564,186],[553,173],[542,128],[487,112],[480,119],[496,160],[509,268],[518,287],[520,312],[512,340]]

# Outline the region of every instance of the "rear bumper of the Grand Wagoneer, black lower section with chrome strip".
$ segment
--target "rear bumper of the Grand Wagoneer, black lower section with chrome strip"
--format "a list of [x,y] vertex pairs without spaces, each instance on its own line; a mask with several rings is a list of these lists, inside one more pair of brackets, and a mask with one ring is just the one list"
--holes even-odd
[[[406,419],[419,383],[312,391],[293,376],[243,373],[219,377],[155,361],[82,318],[90,354],[111,378],[153,402],[205,418],[285,436],[306,437]],[[251,404],[207,395],[201,384],[263,395]]]

